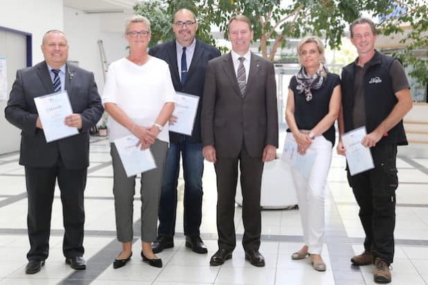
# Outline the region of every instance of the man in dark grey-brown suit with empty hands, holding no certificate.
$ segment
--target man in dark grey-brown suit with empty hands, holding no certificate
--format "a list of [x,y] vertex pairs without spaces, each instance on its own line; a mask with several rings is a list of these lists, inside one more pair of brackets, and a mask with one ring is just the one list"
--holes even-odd
[[217,174],[219,249],[210,264],[231,259],[235,248],[235,192],[238,162],[242,187],[245,258],[265,266],[260,247],[260,187],[263,163],[278,147],[278,111],[274,65],[250,52],[253,30],[249,19],[232,17],[228,26],[231,53],[211,60],[206,68],[202,103],[204,158]]

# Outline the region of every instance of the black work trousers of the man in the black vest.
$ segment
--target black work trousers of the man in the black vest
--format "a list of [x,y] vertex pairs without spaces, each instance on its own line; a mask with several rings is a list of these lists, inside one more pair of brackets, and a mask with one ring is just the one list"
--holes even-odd
[[379,145],[372,147],[371,153],[375,168],[355,176],[350,176],[348,171],[348,181],[359,205],[359,219],[366,234],[365,250],[391,264],[398,187],[397,146]]

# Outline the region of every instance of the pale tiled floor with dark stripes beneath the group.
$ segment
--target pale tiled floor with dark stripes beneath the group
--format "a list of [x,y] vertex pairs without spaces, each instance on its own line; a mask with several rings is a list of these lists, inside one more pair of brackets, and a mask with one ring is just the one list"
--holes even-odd
[[[400,154],[400,151],[399,151]],[[215,226],[216,188],[213,165],[206,163],[202,238],[208,255],[198,255],[184,246],[183,207],[179,203],[175,248],[159,254],[163,268],[144,264],[139,257],[141,243],[135,237],[134,256],[120,269],[112,261],[120,251],[116,241],[112,166],[107,140],[94,138],[85,192],[85,259],[87,270],[74,271],[62,256],[62,214],[59,192],[55,193],[51,223],[51,251],[40,273],[26,275],[26,187],[19,154],[0,156],[0,284],[373,284],[372,266],[350,265],[350,257],[362,252],[364,232],[358,208],[346,182],[344,158],[333,155],[326,189],[326,243],[323,259],[327,271],[316,272],[309,259],[293,261],[292,252],[302,243],[298,210],[262,211],[262,245],[266,266],[256,268],[244,260],[240,245],[243,226],[241,209],[235,210],[238,246],[233,259],[223,266],[209,266],[217,250]],[[392,284],[428,284],[428,159],[399,156],[400,187],[397,191],[397,225]],[[179,200],[182,201],[182,181]],[[287,187],[287,185],[284,185]],[[139,192],[138,190],[136,191]],[[136,195],[135,209],[141,205]],[[139,233],[139,211],[134,213],[134,232]]]

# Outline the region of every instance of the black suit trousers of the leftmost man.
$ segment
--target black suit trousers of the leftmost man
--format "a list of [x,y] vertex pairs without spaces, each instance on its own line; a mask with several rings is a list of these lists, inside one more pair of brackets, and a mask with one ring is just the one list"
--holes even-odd
[[70,170],[61,158],[52,167],[25,167],[28,194],[28,237],[30,250],[27,259],[45,260],[49,254],[51,214],[55,181],[61,192],[64,240],[62,252],[65,257],[82,256],[84,204],[87,168]]

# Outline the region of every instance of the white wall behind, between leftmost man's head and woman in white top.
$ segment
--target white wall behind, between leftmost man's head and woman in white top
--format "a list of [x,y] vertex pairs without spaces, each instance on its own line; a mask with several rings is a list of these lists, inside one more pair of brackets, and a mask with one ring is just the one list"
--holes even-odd
[[123,37],[126,17],[125,14],[86,14],[64,7],[64,33],[69,40],[69,60],[79,62],[80,67],[94,73],[100,94],[104,89],[104,77],[98,40],[102,40],[108,63],[126,56],[127,42]]

